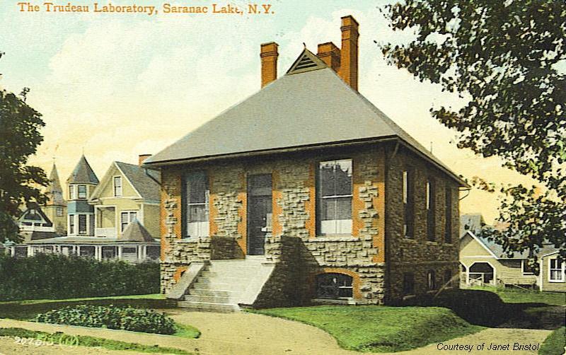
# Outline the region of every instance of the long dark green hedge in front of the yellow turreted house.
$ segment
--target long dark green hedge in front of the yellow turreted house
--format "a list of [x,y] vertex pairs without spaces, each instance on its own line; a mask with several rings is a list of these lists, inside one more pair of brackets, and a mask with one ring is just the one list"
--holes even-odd
[[0,255],[0,301],[159,293],[159,264],[57,254]]

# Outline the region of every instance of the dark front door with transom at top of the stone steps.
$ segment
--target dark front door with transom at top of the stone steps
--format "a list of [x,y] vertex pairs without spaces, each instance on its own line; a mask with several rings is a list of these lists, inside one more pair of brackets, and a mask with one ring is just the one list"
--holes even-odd
[[248,176],[248,255],[265,254],[272,216],[271,174]]

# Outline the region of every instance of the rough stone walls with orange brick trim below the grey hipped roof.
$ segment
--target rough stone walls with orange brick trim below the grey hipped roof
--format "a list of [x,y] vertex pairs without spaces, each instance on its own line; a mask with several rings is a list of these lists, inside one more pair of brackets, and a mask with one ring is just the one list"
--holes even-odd
[[[258,298],[258,305],[305,304],[315,296],[316,275],[338,272],[352,276],[356,303],[383,303],[400,296],[403,272],[415,269],[422,284],[428,269],[437,271],[458,266],[458,194],[454,182],[454,243],[426,242],[420,211],[424,199],[415,199],[415,240],[401,238],[403,229],[400,200],[401,171],[406,161],[422,169],[416,190],[422,190],[424,176],[434,174],[439,181],[446,175],[430,168],[422,158],[398,150],[393,145],[325,149],[310,153],[287,153],[266,158],[187,165],[163,170],[162,196],[163,287],[175,281],[175,274],[191,260],[243,257],[247,250],[246,177],[272,174],[272,232],[266,241],[267,262],[276,263],[272,279]],[[353,165],[352,233],[318,235],[316,226],[316,170],[320,161],[351,158]],[[393,158],[393,159],[392,159]],[[391,163],[390,163],[390,160]],[[386,168],[387,167],[387,168]],[[209,177],[210,235],[219,240],[221,252],[183,242],[180,228],[180,176],[183,171],[205,170]],[[387,194],[386,194],[386,182]],[[437,188],[437,232],[444,235],[444,187]],[[390,196],[391,195],[391,196]],[[386,215],[386,206],[388,209]],[[426,215],[424,215],[426,218]],[[386,239],[386,233],[388,238]],[[424,240],[423,240],[424,238]],[[237,243],[235,244],[234,241]],[[193,243],[194,244],[194,243]],[[214,245],[214,242],[212,243]],[[235,247],[236,246],[236,247]],[[239,250],[238,250],[239,247]],[[208,249],[207,249],[208,248]],[[163,245],[162,245],[163,249]],[[186,256],[185,256],[186,255]],[[388,291],[391,284],[391,291]],[[271,300],[271,301],[269,301]]]

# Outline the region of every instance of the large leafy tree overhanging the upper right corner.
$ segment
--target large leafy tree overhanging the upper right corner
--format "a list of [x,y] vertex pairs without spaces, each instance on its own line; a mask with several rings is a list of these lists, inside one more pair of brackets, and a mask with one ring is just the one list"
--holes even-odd
[[[384,6],[407,45],[381,45],[389,64],[470,98],[460,110],[431,109],[458,132],[458,147],[529,175],[543,187],[501,186],[498,220],[486,231],[507,252],[534,253],[543,241],[566,258],[566,2],[405,0]],[[562,61],[562,62],[561,62]],[[476,181],[494,192],[495,185]]]

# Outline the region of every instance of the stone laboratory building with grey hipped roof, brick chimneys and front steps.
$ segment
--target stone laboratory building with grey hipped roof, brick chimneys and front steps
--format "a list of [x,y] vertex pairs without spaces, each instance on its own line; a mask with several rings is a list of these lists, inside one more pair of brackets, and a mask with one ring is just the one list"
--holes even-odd
[[189,308],[391,303],[458,286],[457,175],[357,91],[358,23],[145,165],[161,285]]

